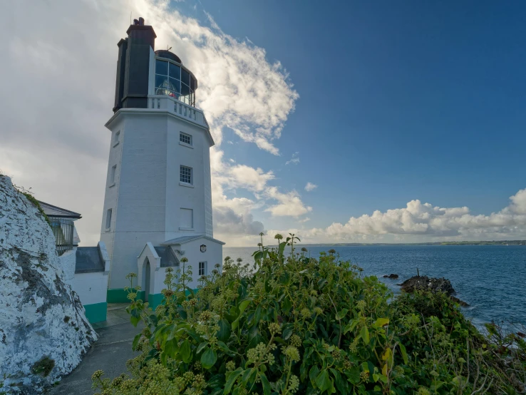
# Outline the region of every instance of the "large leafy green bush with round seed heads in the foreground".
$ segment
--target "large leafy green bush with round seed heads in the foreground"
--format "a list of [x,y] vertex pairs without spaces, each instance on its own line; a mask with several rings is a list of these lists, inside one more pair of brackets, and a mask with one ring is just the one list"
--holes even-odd
[[[520,394],[526,344],[480,334],[443,294],[393,298],[376,277],[340,262],[262,245],[255,270],[225,258],[222,273],[168,272],[155,312],[129,289],[145,329],[131,377],[93,374],[101,394]],[[278,239],[279,242],[280,239]],[[262,243],[261,243],[262,244]],[[284,249],[290,247],[290,257]],[[238,262],[240,263],[240,262]],[[390,303],[391,302],[391,303]]]

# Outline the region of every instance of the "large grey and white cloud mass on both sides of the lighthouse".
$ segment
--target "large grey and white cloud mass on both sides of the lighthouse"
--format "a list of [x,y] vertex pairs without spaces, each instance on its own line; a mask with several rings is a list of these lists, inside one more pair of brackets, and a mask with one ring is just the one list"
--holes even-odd
[[[267,61],[264,48],[225,34],[212,16],[205,26],[169,5],[162,0],[0,4],[10,31],[0,42],[0,73],[9,92],[0,106],[0,168],[14,175],[15,183],[32,187],[36,198],[81,212],[83,245],[99,238],[109,149],[103,125],[113,115],[116,43],[125,36],[130,11],[154,26],[157,48],[170,45],[199,79],[197,106],[217,144],[211,150],[217,237],[263,229],[250,210],[266,199],[275,201],[262,194],[274,180],[272,171],[235,164],[222,157],[220,147],[229,127],[242,140],[279,155],[275,142],[299,97],[287,71],[278,61]],[[229,199],[223,191],[232,188],[260,198]]]

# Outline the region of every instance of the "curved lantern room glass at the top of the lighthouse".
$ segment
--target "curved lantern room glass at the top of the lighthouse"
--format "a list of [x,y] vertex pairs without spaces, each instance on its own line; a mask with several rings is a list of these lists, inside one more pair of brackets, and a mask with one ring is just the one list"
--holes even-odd
[[195,78],[185,68],[161,59],[155,60],[155,94],[170,96],[195,107]]

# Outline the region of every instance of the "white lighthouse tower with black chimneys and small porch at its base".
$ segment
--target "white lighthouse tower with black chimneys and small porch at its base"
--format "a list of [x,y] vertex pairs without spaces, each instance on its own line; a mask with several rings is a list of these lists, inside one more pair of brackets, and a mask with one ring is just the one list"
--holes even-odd
[[[110,256],[108,302],[126,302],[125,276],[138,273],[141,296],[163,299],[165,269],[182,257],[194,282],[222,262],[212,235],[210,147],[195,107],[197,78],[180,58],[155,51],[141,18],[118,43],[114,115],[100,240]],[[134,283],[135,285],[135,283]]]

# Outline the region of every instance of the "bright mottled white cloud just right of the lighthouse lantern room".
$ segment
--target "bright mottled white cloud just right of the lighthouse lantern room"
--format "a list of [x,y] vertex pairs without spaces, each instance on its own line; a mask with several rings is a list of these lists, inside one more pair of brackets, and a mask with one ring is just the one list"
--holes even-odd
[[242,140],[274,155],[272,140],[299,98],[278,61],[269,63],[264,48],[225,34],[208,15],[211,27],[167,8],[165,1],[136,0],[148,24],[158,35],[156,45],[170,44],[200,82],[199,105],[220,143],[222,128],[229,127]]

